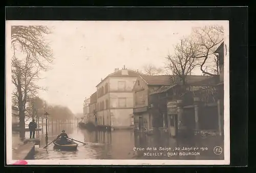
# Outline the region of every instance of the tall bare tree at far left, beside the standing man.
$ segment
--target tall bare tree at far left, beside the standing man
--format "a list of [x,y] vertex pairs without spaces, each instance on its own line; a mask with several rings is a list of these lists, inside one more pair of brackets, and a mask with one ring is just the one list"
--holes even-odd
[[[25,115],[31,114],[28,105],[37,95],[39,87],[36,82],[40,79],[41,70],[47,71],[53,60],[52,50],[45,40],[45,34],[50,31],[45,26],[12,26],[11,44],[12,57],[12,83],[13,102],[19,109],[19,137],[25,138]],[[16,57],[16,52],[26,55],[25,58]]]

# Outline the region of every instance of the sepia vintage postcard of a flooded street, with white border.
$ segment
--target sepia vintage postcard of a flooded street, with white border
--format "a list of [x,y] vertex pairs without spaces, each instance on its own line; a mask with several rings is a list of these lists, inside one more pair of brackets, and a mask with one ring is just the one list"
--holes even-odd
[[7,164],[230,163],[226,20],[6,21]]

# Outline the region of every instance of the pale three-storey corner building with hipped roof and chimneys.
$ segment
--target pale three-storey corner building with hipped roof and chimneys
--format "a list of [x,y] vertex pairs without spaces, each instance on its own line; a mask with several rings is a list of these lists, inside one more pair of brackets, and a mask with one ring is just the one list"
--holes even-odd
[[97,86],[98,125],[127,128],[133,125],[134,98],[132,89],[139,73],[115,69]]

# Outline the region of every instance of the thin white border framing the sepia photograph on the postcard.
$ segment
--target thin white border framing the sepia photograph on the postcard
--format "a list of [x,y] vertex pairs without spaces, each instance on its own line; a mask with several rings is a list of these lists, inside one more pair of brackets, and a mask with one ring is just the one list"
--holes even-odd
[[[179,20],[176,20],[179,21]],[[186,21],[186,20],[182,20]],[[182,22],[181,20],[179,22]],[[193,20],[191,20],[193,21]],[[220,21],[224,27],[224,160],[26,160],[28,165],[228,165],[230,164],[230,115],[229,115],[229,21],[228,20],[196,20],[197,23]],[[6,21],[6,158],[7,165],[12,160],[12,102],[11,92],[11,26],[12,25],[51,25],[56,22],[44,20],[7,20]],[[84,22],[84,21],[68,21]],[[102,22],[102,21],[99,21]],[[105,21],[112,22],[112,21]],[[118,21],[115,21],[118,22]],[[138,21],[140,22],[140,21]]]

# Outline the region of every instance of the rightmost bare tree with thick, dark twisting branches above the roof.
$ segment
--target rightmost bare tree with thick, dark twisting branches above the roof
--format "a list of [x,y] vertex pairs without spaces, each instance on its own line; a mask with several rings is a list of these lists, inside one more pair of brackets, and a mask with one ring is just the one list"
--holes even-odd
[[[200,70],[202,73],[211,76],[219,75],[219,58],[215,54],[215,51],[223,42],[223,27],[213,25],[203,28],[194,28],[191,38],[195,40],[193,57],[201,60]],[[210,66],[207,66],[207,63],[209,63]]]

